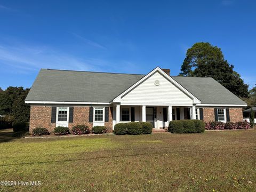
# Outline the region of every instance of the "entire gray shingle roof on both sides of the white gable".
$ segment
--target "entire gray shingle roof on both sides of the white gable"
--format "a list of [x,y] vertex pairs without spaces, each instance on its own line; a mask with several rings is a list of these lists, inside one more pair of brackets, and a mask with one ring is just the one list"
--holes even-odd
[[[41,69],[26,101],[110,102],[144,76]],[[203,104],[246,104],[213,78],[172,78]]]

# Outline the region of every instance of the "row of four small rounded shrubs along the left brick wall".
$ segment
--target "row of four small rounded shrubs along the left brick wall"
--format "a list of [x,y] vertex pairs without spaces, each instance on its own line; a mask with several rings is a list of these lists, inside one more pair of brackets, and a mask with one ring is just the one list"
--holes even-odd
[[[64,126],[55,127],[53,132],[55,135],[70,134],[70,130],[68,129],[68,127],[64,127]],[[73,126],[72,132],[75,135],[91,133],[89,127],[86,125]],[[92,127],[92,133],[94,133],[94,134],[107,133],[107,128],[105,126],[94,126],[94,127]],[[47,135],[47,134],[50,134],[50,132],[46,128],[43,128],[43,127],[36,127],[33,130],[34,136],[35,135]]]

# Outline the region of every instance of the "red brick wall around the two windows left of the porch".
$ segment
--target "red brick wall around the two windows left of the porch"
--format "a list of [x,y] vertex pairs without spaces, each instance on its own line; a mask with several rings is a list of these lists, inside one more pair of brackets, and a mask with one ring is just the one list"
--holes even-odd
[[[89,122],[89,106],[75,106],[73,114],[73,123],[69,123],[69,129],[71,130],[74,125],[85,124],[92,129],[93,123]],[[53,132],[55,123],[51,123],[52,107],[50,106],[31,106],[30,107],[30,124],[29,131],[32,132],[36,127],[45,127],[50,132]],[[108,132],[112,132],[113,118],[109,107],[109,121],[105,122]]]

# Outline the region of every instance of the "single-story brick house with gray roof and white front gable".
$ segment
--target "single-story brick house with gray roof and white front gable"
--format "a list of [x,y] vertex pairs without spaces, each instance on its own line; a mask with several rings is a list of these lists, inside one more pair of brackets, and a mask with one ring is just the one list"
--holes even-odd
[[150,122],[167,127],[174,119],[243,121],[246,103],[207,77],[170,76],[159,67],[147,75],[41,69],[26,103],[30,131],[43,126]]

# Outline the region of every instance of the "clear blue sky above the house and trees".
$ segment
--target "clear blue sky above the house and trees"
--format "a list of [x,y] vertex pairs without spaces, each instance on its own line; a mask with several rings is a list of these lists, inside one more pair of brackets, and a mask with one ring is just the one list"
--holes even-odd
[[178,75],[196,42],[221,47],[256,83],[256,1],[2,1],[0,87],[30,87],[40,68]]

